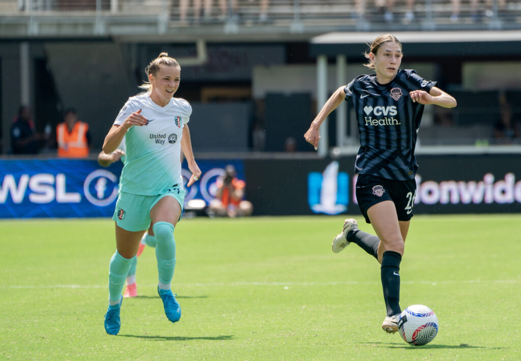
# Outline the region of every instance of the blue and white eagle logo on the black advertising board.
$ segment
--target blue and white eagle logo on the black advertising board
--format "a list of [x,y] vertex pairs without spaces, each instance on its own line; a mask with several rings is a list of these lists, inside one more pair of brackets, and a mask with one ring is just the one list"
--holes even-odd
[[331,162],[324,172],[307,176],[307,201],[315,213],[339,214],[348,210],[349,175],[339,172],[337,161]]

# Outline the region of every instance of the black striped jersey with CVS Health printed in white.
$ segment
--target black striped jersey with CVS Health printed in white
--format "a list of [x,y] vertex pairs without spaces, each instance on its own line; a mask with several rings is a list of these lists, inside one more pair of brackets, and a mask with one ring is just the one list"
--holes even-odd
[[396,181],[414,178],[414,148],[424,105],[413,103],[409,92],[429,92],[435,85],[415,70],[400,69],[387,84],[378,83],[376,75],[361,75],[344,88],[345,100],[353,99],[360,135],[355,173]]

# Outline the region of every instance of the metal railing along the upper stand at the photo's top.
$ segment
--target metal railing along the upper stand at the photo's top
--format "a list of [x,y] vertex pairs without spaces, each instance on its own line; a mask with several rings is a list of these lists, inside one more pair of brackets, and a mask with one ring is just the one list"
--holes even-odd
[[408,7],[396,0],[393,8],[365,0],[0,0],[0,18],[9,16],[163,16],[172,26],[238,22],[266,25],[362,26],[364,23],[414,25],[425,28],[487,24],[521,24],[521,2],[493,0],[490,8],[450,0],[416,1]]

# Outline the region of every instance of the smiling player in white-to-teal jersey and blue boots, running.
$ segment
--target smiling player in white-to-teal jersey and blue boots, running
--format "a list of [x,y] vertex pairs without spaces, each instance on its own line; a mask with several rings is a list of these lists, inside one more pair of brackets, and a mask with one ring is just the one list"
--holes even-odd
[[171,291],[176,265],[173,230],[181,217],[184,188],[181,151],[192,172],[187,186],[201,176],[192,151],[187,123],[192,107],[173,98],[180,82],[181,67],[176,59],[161,53],[145,69],[147,92],[129,98],[110,128],[103,151],[117,149],[123,137],[127,159],[121,171],[119,196],[113,220],[116,222],[116,252],[109,266],[109,306],[105,331],[117,334],[121,327],[121,291],[141,237],[152,223],[156,239],[157,292],[171,322],[179,321],[181,308]]

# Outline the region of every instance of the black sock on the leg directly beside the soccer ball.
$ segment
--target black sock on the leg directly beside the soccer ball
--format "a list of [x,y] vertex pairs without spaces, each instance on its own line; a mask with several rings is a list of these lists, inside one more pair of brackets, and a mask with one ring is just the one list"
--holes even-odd
[[394,251],[383,252],[380,275],[383,299],[386,302],[387,316],[400,314],[400,262],[402,256]]

